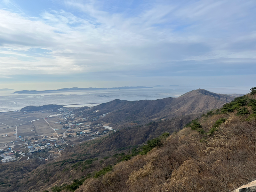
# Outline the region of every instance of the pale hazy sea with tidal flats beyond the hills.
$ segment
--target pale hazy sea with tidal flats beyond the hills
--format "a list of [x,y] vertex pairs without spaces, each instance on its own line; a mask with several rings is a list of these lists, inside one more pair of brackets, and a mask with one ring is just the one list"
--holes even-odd
[[119,90],[83,90],[76,92],[53,92],[44,94],[13,94],[14,91],[0,91],[0,112],[20,110],[33,105],[58,104],[65,107],[95,106],[111,100],[156,100],[166,97],[179,97],[180,95],[195,90],[206,89],[222,94],[246,94],[250,90],[244,87],[200,87],[200,86],[170,86],[152,87],[144,89],[119,89]]

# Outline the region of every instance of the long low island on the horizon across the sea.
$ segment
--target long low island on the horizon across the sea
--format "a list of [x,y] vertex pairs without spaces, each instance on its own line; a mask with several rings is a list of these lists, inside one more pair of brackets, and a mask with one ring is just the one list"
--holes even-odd
[[36,91],[36,90],[28,91],[28,90],[23,90],[23,91],[15,91],[13,93],[18,93],[18,94],[35,94],[35,93],[51,93],[51,92],[82,91],[82,90],[144,89],[144,88],[152,88],[152,87],[143,87],[143,86],[137,86],[137,87],[112,87],[112,88],[96,88],[96,87],[78,88],[78,87],[72,87],[72,88],[63,88],[63,89],[56,89],[56,90],[44,90],[44,91]]

